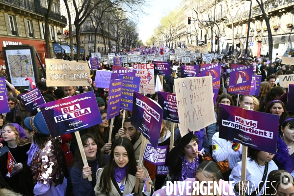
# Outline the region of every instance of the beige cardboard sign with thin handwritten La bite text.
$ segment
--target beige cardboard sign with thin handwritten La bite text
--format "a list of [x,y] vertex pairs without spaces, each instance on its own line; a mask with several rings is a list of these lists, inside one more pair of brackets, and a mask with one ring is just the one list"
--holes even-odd
[[177,79],[175,91],[182,137],[188,128],[198,131],[216,122],[212,76]]

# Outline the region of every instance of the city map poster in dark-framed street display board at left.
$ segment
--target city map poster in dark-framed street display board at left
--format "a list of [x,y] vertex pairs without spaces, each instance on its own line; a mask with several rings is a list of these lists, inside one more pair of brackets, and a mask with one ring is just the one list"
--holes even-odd
[[36,82],[34,75],[35,67],[32,62],[35,55],[31,55],[30,49],[5,50],[5,53],[9,70],[8,74],[12,85],[28,86],[29,81],[25,81],[27,77]]

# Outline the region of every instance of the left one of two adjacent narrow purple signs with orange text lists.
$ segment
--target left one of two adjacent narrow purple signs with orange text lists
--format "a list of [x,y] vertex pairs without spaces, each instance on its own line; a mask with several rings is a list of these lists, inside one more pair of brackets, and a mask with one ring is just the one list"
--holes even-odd
[[106,119],[113,118],[119,114],[123,80],[111,80],[109,84],[109,96]]

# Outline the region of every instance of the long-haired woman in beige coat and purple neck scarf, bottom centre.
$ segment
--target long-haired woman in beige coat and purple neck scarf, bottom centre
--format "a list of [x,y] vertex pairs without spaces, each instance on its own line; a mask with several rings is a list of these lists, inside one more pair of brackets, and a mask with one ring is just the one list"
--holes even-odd
[[139,196],[152,196],[152,180],[145,168],[136,163],[132,142],[127,138],[117,139],[110,152],[110,161],[97,170],[94,188],[98,196],[125,196],[134,193],[136,178],[140,179]]

